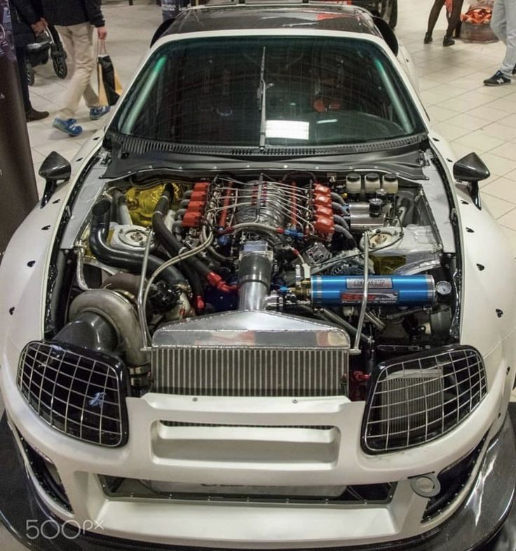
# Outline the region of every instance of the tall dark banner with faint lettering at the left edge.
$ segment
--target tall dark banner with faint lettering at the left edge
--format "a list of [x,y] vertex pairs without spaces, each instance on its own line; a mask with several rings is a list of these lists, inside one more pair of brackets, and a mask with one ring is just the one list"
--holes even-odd
[[0,260],[38,200],[8,0],[0,0]]

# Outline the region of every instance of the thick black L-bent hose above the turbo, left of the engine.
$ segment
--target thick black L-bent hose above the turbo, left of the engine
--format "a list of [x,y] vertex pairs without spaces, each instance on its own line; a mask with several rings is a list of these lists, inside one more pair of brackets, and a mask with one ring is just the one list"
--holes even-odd
[[[125,251],[115,249],[107,243],[109,233],[109,222],[111,221],[111,201],[109,199],[101,199],[95,205],[91,212],[91,227],[90,227],[90,249],[95,257],[104,262],[108,266],[123,268],[133,273],[138,273],[142,269],[144,252],[140,251]],[[147,274],[151,275],[159,266],[163,264],[161,259],[149,254],[147,264]],[[161,278],[170,283],[177,285],[184,283],[184,275],[175,266],[166,268],[161,274]]]

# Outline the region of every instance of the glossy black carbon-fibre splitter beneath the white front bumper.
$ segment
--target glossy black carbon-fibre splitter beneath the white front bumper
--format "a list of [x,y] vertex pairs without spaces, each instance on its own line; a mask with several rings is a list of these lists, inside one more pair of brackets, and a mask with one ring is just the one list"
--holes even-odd
[[[60,519],[53,517],[46,510],[32,488],[5,415],[0,421],[0,442],[2,442],[0,520],[13,533],[13,536],[27,547],[37,551],[212,551],[207,550],[206,547],[154,545],[135,540],[97,536],[90,532],[77,533],[73,527],[64,529]],[[323,550],[514,551],[516,549],[515,473],[515,435],[510,416],[507,416],[500,432],[489,443],[468,498],[447,522],[435,530],[435,533],[393,543],[327,547]],[[34,528],[30,529],[30,526],[41,527],[43,523],[46,523],[48,528],[45,536]]]

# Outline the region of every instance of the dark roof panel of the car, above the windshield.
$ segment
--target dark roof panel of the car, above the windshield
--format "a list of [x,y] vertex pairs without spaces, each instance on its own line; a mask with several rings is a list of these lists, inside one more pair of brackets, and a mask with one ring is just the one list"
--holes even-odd
[[316,29],[381,36],[363,8],[329,2],[210,2],[186,9],[161,36],[241,29]]

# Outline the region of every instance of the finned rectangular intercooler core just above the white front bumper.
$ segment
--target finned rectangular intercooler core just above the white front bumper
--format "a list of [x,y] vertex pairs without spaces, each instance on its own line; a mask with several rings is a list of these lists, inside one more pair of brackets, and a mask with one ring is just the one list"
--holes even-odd
[[346,392],[338,348],[153,348],[156,392],[205,396],[330,396]]

